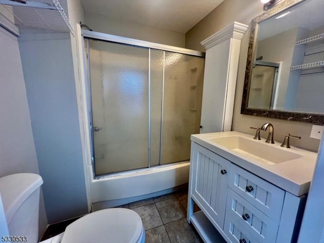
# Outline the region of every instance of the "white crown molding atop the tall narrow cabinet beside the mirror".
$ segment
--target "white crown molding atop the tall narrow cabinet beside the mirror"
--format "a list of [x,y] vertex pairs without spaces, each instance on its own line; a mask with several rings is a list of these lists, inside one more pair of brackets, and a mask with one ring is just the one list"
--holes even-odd
[[248,27],[249,26],[246,24],[241,24],[234,21],[232,24],[228,25],[227,27],[223,28],[222,30],[218,31],[212,36],[208,37],[200,44],[203,45],[207,50],[218,45],[221,42],[226,41],[226,39],[229,38],[241,40],[244,33],[247,31]]

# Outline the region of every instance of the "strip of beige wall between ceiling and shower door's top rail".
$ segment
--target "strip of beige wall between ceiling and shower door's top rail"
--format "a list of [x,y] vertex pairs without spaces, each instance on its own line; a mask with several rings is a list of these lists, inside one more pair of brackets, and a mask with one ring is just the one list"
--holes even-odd
[[97,32],[140,39],[141,41],[154,42],[175,47],[185,47],[184,33],[116,20],[104,15],[88,13],[87,11],[86,21],[83,23],[87,24],[93,29],[93,31]]

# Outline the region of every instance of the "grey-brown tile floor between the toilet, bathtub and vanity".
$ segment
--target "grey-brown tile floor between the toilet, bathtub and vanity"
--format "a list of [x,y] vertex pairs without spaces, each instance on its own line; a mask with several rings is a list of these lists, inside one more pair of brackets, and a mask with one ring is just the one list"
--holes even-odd
[[[186,220],[187,191],[179,191],[119,206],[134,210],[142,219],[145,243],[203,242]],[[199,208],[195,206],[194,211]]]

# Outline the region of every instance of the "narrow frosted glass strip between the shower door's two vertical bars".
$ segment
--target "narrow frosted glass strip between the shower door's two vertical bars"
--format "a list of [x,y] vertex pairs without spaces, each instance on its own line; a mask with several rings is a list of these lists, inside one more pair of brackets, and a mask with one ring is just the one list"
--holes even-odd
[[157,166],[160,159],[161,109],[163,94],[164,51],[150,51],[150,165]]

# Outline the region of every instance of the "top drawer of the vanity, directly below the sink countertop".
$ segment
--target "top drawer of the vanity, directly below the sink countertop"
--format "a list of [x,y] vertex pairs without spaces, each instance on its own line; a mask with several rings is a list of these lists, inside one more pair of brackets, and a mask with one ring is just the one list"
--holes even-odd
[[252,173],[231,164],[229,188],[279,223],[285,191]]

